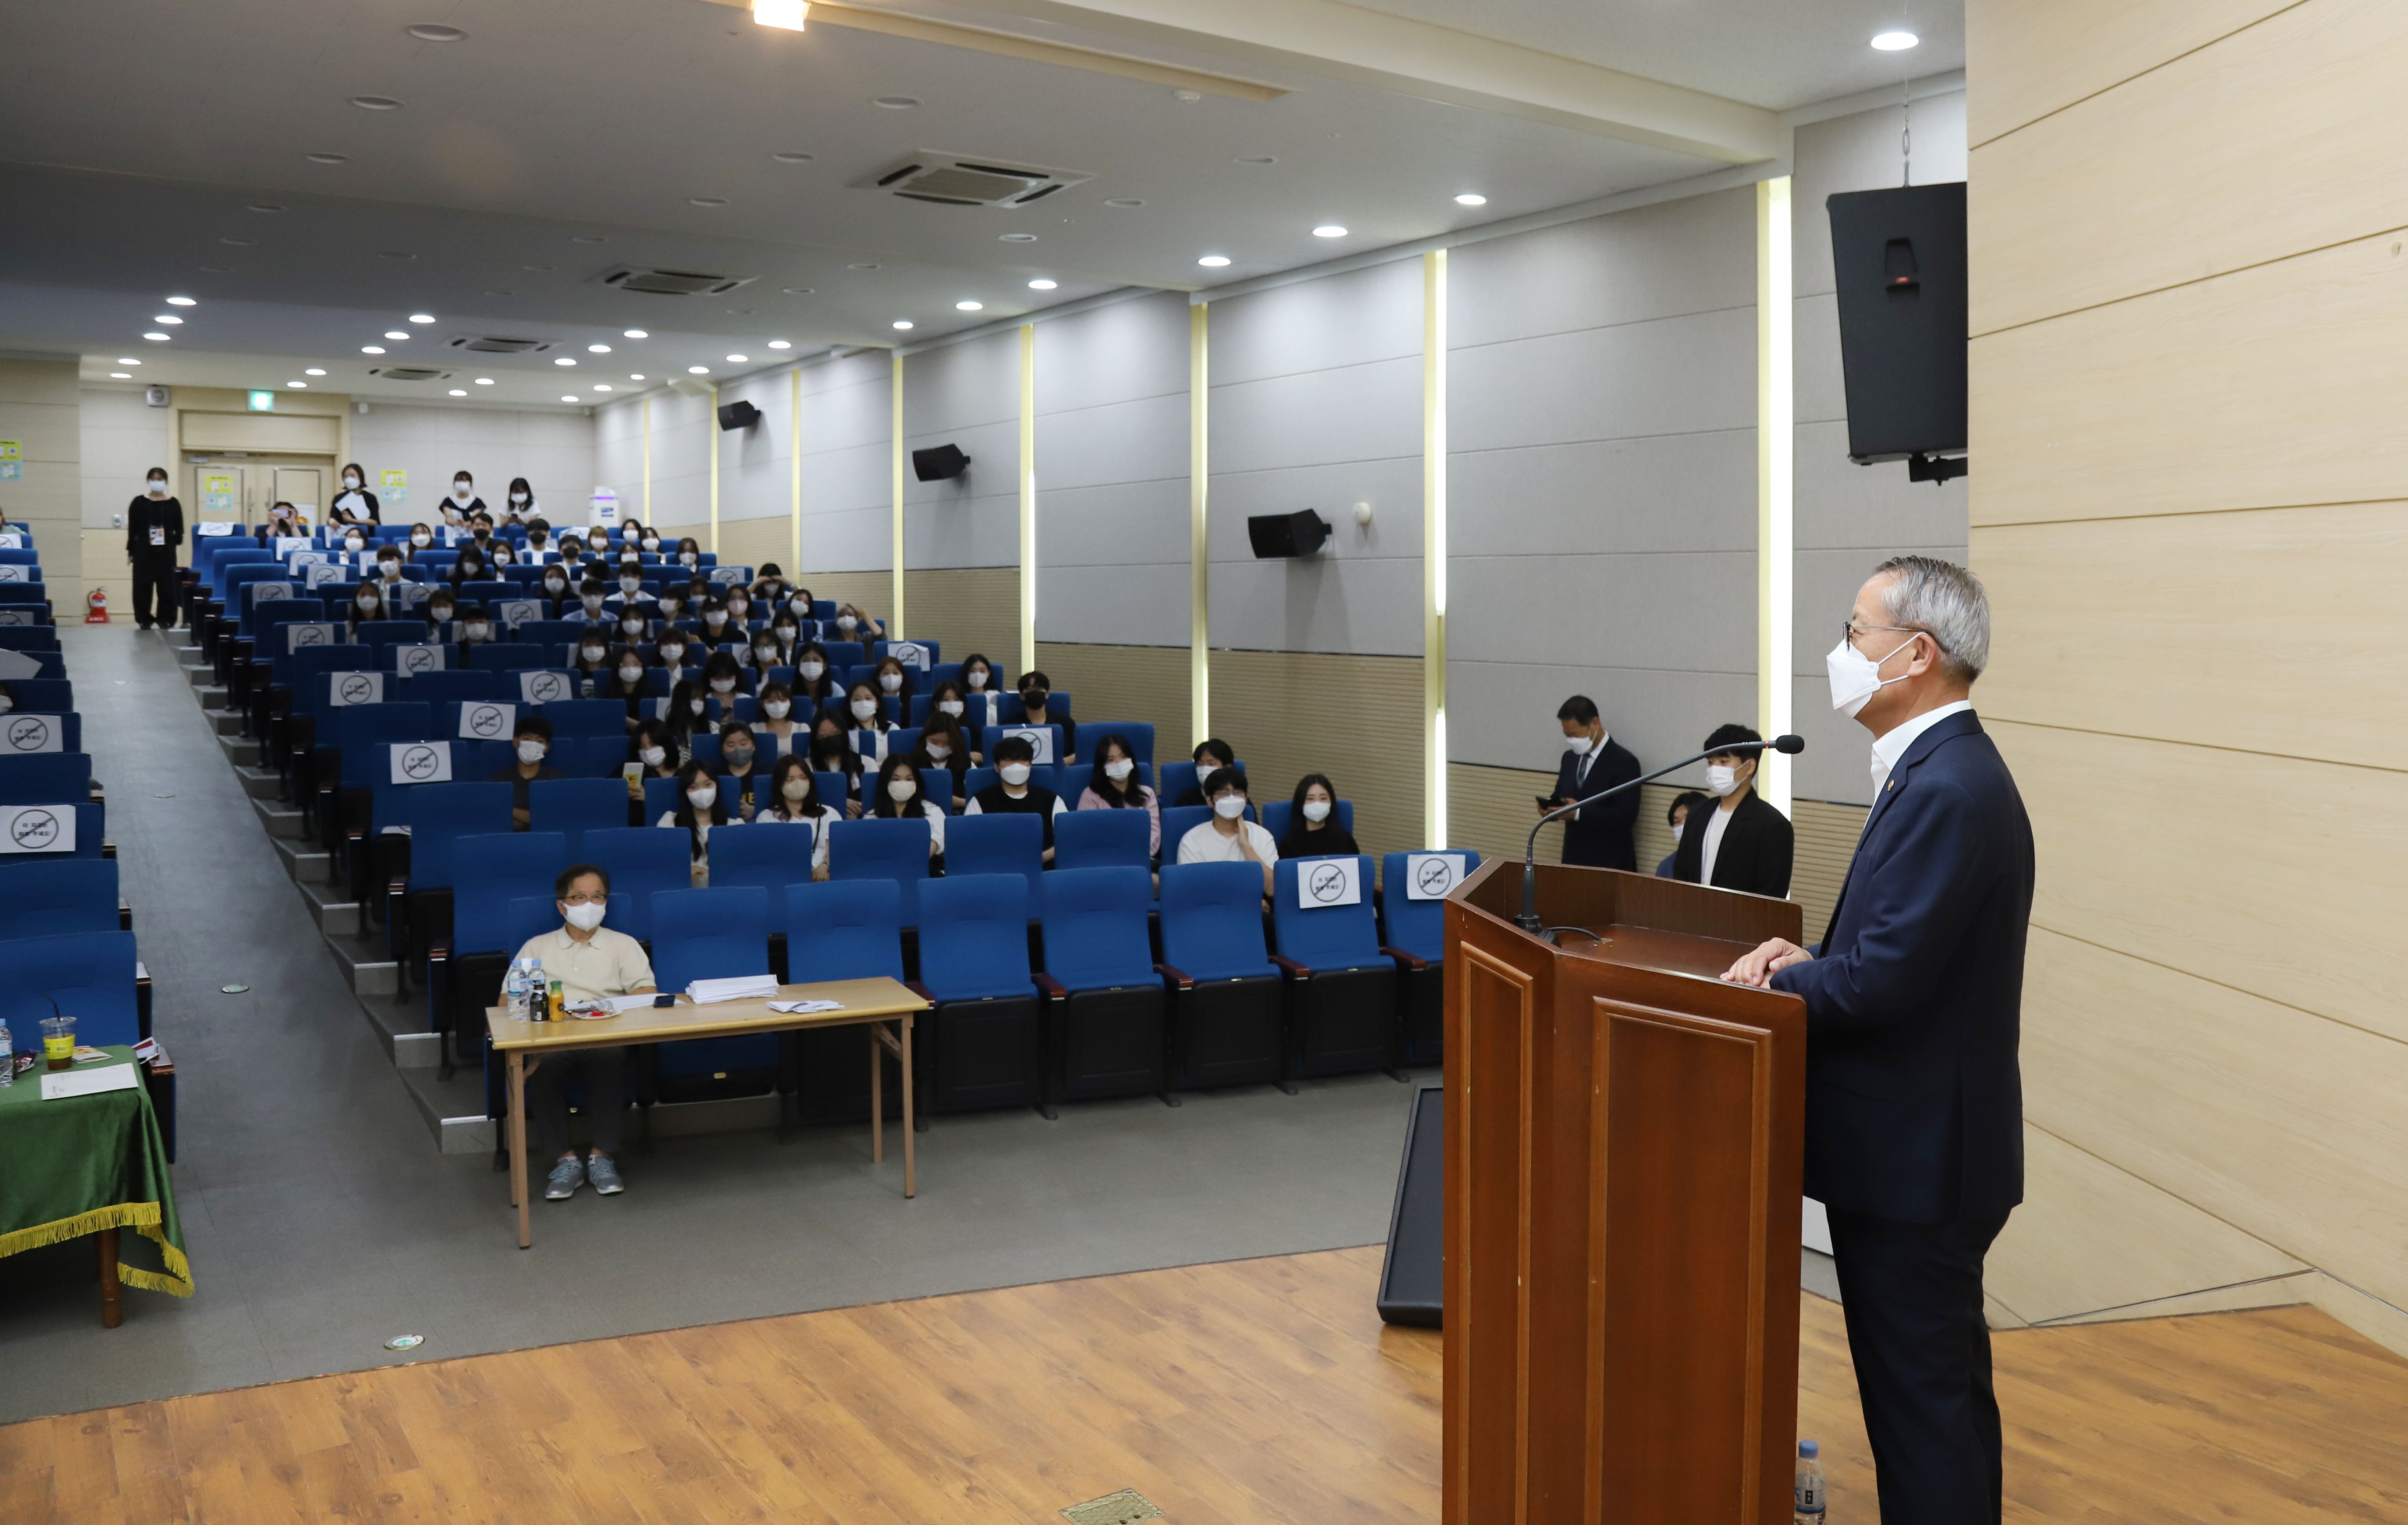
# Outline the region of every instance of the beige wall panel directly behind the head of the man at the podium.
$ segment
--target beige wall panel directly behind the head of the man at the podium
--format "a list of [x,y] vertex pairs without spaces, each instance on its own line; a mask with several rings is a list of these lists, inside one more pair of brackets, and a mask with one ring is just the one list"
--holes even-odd
[[2367,701],[2408,684],[2408,504],[1977,528],[1972,564],[1994,622],[1987,716],[2348,764],[2408,754],[2408,713]]

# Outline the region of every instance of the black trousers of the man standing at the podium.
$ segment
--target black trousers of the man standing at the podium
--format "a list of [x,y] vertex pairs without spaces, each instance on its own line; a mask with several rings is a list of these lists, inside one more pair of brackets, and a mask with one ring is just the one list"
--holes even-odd
[[1999,1395],[1982,1258],[2006,1217],[1900,1224],[1830,1209],[1881,1525],[1996,1525]]

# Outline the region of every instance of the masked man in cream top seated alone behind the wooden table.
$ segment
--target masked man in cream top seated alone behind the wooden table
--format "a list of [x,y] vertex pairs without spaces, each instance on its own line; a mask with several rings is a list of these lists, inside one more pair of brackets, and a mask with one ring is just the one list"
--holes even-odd
[[[544,966],[544,981],[559,981],[571,1002],[604,995],[643,995],[653,988],[653,961],[626,932],[602,925],[609,911],[609,875],[590,862],[561,872],[551,894],[561,908],[561,930],[530,937],[520,959]],[[585,1091],[585,1115],[595,1142],[588,1159],[568,1144],[568,1091]],[[549,1053],[527,1077],[527,1118],[537,1144],[551,1154],[544,1200],[563,1202],[592,1180],[604,1197],[621,1190],[612,1156],[626,1137],[626,1048],[571,1048]]]

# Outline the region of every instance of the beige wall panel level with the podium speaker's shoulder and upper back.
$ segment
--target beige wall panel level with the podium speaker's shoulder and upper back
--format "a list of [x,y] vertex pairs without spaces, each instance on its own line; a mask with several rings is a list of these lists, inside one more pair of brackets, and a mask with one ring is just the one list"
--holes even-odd
[[1991,735],[2032,814],[2037,925],[2408,1041],[2408,778],[2008,720]]

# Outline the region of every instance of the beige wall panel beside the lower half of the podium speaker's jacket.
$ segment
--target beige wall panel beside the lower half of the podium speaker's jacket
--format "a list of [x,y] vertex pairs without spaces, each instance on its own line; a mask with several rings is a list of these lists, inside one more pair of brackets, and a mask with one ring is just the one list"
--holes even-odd
[[2025,1115],[2408,1303],[2408,1043],[2032,928]]

